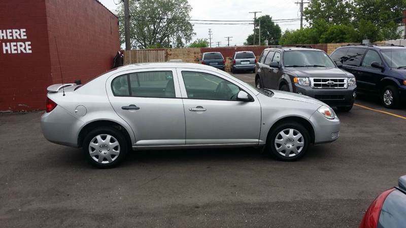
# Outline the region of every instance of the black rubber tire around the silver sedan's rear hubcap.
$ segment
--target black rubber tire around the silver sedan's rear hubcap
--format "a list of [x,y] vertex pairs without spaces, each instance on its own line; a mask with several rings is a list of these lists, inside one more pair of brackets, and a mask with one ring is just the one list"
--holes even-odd
[[[95,159],[99,158],[100,155],[95,155],[95,156],[91,156],[90,155],[90,151],[93,150],[94,148],[90,148],[90,141],[92,141],[96,136],[99,135],[110,135],[112,136],[112,141],[115,142],[115,140],[118,141],[118,147],[110,147],[110,146],[106,146],[98,148],[95,150],[96,153],[100,153],[101,156],[103,156],[103,159],[101,162],[108,162],[108,163],[100,163],[96,160],[93,159],[93,157]],[[107,140],[107,136],[106,138],[101,137],[102,140]],[[112,142],[110,141],[110,142]],[[99,144],[99,142],[97,141],[93,141],[93,142],[97,142],[97,145]],[[106,142],[107,143],[107,142]],[[89,132],[85,139],[83,140],[83,152],[86,156],[86,159],[90,162],[91,165],[97,167],[97,168],[102,168],[102,169],[107,169],[107,168],[113,168],[116,167],[117,165],[120,164],[120,162],[123,161],[123,159],[125,158],[125,156],[127,155],[128,152],[128,142],[125,138],[125,136],[123,135],[122,132],[120,132],[118,129],[113,128],[113,127],[98,127],[93,129],[91,132]],[[107,144],[106,144],[107,145]],[[109,144],[110,145],[110,144]],[[110,151],[111,149],[111,151]],[[119,149],[119,154],[115,155],[115,154],[110,154],[110,152],[113,152],[114,150]],[[98,150],[98,151],[97,151]],[[107,151],[109,150],[109,151]],[[100,152],[101,151],[101,152]],[[93,151],[94,153],[94,151]],[[112,161],[109,161],[107,159],[107,156],[110,155],[110,158],[112,159]],[[117,156],[117,157],[116,157]]]

